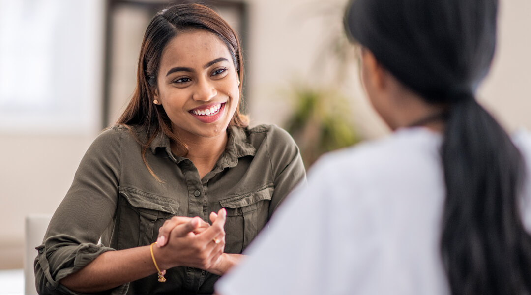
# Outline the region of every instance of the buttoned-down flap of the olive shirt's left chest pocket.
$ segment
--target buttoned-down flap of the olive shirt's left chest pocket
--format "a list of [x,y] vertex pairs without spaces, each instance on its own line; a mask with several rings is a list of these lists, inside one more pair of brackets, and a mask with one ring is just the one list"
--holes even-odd
[[120,195],[124,196],[127,201],[136,208],[157,210],[161,212],[176,214],[179,209],[179,203],[174,199],[160,197],[153,194],[141,192],[140,190],[129,187],[118,187]]

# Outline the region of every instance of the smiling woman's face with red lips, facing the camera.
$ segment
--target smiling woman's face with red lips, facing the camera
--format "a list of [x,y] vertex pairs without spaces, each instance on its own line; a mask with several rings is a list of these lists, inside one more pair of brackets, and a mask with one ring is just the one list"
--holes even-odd
[[226,136],[239,101],[227,46],[204,30],[178,34],[162,51],[155,99],[182,140]]

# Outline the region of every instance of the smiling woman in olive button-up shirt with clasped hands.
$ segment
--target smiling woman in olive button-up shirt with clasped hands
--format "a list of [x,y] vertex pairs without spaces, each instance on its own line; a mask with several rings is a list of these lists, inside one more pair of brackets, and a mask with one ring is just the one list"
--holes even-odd
[[247,126],[242,74],[239,40],[210,8],[152,19],[131,102],[85,154],[38,247],[40,294],[213,292],[305,181],[287,132]]

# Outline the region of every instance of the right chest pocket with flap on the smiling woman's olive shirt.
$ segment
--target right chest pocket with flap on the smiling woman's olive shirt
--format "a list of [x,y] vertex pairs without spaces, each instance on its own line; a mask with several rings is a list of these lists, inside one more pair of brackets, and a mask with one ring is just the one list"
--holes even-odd
[[225,251],[242,253],[268,222],[273,186],[219,201],[227,210]]

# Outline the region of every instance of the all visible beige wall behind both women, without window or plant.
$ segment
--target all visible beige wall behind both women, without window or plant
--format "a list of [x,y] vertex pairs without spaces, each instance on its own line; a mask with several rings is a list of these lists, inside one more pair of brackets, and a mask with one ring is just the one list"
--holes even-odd
[[[102,1],[102,0],[98,0]],[[249,0],[250,44],[247,93],[252,123],[281,125],[289,112],[285,90],[294,80],[318,83],[316,54],[337,28],[323,13],[322,1]],[[340,7],[344,1],[336,0]],[[531,129],[531,2],[502,0],[499,46],[491,74],[480,89],[480,100],[512,129]],[[336,4],[333,4],[336,5]],[[332,5],[332,6],[333,6]],[[101,41],[101,40],[100,40]],[[94,45],[99,52],[100,44]],[[98,59],[98,57],[96,57]],[[353,116],[367,137],[386,133],[363,97],[356,70],[348,79]],[[100,86],[93,97],[100,99]],[[97,126],[99,122],[96,122]],[[90,142],[97,135],[56,132],[0,132],[0,268],[22,266],[23,218],[29,213],[53,213],[71,184],[74,171]]]

